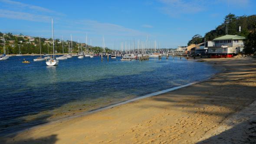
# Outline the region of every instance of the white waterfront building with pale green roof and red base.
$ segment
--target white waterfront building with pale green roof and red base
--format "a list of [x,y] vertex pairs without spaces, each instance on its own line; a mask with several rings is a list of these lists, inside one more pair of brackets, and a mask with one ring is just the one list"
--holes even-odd
[[208,54],[211,58],[227,58],[243,51],[243,36],[225,35],[213,39],[212,45],[208,44]]

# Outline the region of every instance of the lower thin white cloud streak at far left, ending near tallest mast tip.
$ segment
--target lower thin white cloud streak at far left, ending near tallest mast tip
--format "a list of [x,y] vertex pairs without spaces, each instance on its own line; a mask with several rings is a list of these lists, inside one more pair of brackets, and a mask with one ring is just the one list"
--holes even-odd
[[16,20],[29,20],[36,22],[50,22],[50,16],[36,15],[31,13],[16,12],[11,10],[0,9],[0,17],[16,19]]

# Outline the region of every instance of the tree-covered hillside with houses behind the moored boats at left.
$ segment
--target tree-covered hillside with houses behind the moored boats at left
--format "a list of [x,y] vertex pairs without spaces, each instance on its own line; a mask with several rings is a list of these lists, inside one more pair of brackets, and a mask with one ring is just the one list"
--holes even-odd
[[[22,35],[22,34],[20,34]],[[0,36],[3,37],[3,33],[0,32]],[[30,41],[29,39],[26,38],[26,36],[21,37],[21,36],[14,36],[12,33],[7,33],[4,36],[5,39],[5,47],[6,47],[6,52],[7,54],[39,54],[40,49],[39,49],[39,37],[34,37],[34,41]],[[52,41],[53,39],[48,39],[49,41]],[[10,43],[10,41],[14,41],[13,43]],[[22,41],[22,43],[20,42]],[[41,41],[41,52],[43,53],[52,53],[53,52],[53,44],[52,43],[46,43],[46,38],[40,38]],[[62,53],[62,43],[61,40],[55,39],[55,51],[57,53]],[[69,52],[69,46],[71,48],[71,41],[65,41],[63,42],[64,45],[64,52],[67,53]],[[80,45],[80,50],[81,50],[81,44]],[[20,50],[19,50],[20,46]],[[72,42],[72,51],[73,53],[78,52],[78,43],[77,42]],[[85,44],[83,46],[83,50],[85,52]],[[90,51],[90,46],[87,45],[87,51]],[[111,49],[105,48],[106,52],[111,52]],[[92,52],[94,53],[99,53],[103,52],[102,47],[98,46],[92,46]],[[3,40],[0,40],[0,53],[3,54]]]

